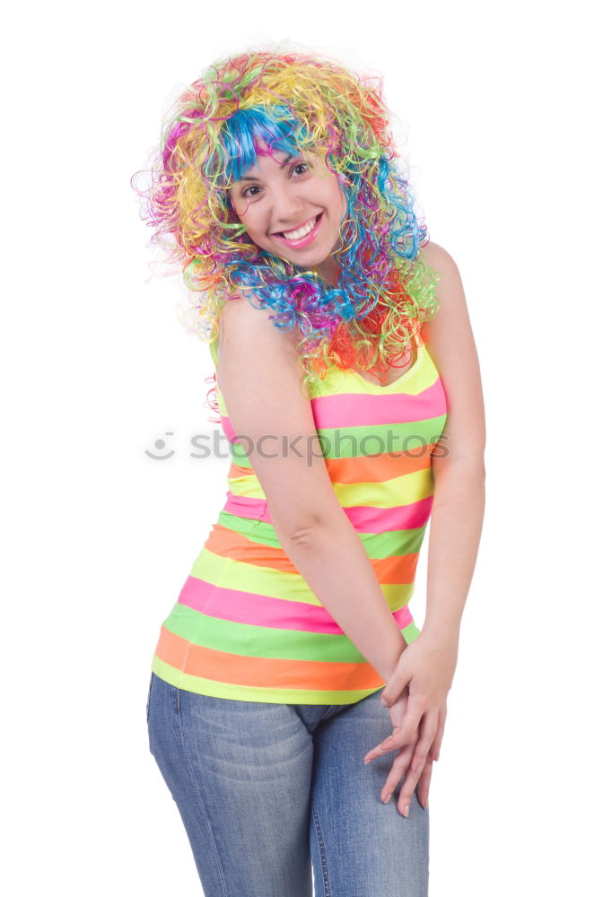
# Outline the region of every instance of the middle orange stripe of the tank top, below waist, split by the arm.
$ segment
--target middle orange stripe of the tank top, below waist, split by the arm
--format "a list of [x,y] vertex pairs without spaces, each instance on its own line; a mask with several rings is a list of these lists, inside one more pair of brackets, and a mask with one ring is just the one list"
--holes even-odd
[[[206,539],[205,548],[213,554],[218,554],[219,557],[244,561],[254,567],[270,567],[272,570],[299,575],[299,570],[282,548],[251,542],[246,536],[234,533],[220,524],[214,524]],[[389,585],[412,582],[418,559],[418,553],[413,553],[369,560],[378,581],[383,585]]]

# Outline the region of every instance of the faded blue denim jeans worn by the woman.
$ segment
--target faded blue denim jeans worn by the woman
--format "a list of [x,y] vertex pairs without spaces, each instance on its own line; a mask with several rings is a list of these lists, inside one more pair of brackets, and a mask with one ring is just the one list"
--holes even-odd
[[151,753],[205,897],[427,897],[429,810],[380,801],[396,752],[380,692],[355,704],[212,698],[151,673]]

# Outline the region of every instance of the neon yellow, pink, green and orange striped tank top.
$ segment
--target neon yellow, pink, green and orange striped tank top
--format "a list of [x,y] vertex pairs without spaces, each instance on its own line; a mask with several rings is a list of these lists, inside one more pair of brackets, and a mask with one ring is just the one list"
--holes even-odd
[[[218,386],[215,395],[231,454],[226,502],[162,623],[151,668],[216,698],[361,701],[385,683],[281,547]],[[432,508],[431,453],[447,418],[440,374],[419,340],[394,383],[335,366],[310,387],[310,401],[336,498],[409,644],[420,634],[409,602]]]

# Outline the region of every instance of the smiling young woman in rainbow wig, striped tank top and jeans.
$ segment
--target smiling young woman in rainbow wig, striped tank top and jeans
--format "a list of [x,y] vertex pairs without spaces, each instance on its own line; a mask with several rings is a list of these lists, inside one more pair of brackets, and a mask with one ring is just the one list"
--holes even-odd
[[144,193],[197,295],[231,452],[147,701],[207,897],[306,897],[312,877],[318,895],[427,894],[485,422],[459,271],[415,214],[374,80],[223,60],[179,97]]

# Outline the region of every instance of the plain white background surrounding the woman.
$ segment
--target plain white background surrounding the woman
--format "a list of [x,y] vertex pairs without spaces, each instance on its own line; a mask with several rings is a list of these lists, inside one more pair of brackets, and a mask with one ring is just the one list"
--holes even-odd
[[[581,9],[12,7],[6,893],[201,893],[144,714],[159,627],[222,507],[228,459],[189,457],[189,438],[213,428],[212,363],[176,317],[177,279],[149,279],[129,180],[185,84],[223,55],[281,40],[384,74],[481,359],[487,510],[430,795],[432,897],[588,890],[592,145]],[[151,460],[145,450],[166,432],[174,456]]]

